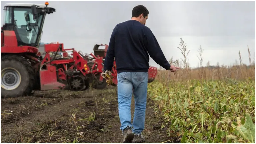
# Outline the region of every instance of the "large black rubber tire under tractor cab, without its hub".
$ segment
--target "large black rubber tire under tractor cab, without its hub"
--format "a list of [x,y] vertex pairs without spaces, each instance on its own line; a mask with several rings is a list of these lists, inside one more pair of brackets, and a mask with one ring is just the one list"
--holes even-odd
[[29,61],[19,55],[5,55],[1,58],[1,71],[7,67],[14,68],[20,73],[21,83],[10,91],[1,87],[1,97],[30,95],[35,84],[35,72]]

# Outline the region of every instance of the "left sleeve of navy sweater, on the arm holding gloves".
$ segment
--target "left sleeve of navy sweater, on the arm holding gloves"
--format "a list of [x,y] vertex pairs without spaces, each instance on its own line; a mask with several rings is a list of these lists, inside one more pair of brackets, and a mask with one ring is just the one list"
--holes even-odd
[[111,71],[114,63],[114,58],[115,58],[115,35],[116,35],[116,28],[117,25],[115,26],[108,45],[108,50],[106,53],[105,61],[104,61],[104,70]]

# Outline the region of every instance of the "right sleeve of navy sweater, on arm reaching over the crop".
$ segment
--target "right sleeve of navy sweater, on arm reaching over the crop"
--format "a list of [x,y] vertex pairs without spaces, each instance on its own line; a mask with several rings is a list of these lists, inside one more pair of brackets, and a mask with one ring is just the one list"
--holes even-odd
[[166,60],[164,53],[156,40],[156,37],[151,31],[146,35],[146,47],[148,54],[157,64],[166,70],[170,69],[171,65]]

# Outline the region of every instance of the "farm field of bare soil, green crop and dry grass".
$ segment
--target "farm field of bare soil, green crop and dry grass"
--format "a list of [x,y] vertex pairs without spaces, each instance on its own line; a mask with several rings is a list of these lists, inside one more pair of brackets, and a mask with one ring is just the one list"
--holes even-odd
[[[191,69],[181,39],[174,75],[158,70],[148,83],[146,143],[255,143],[255,58],[250,66]],[[134,99],[131,112],[133,118]],[[1,99],[2,143],[121,143],[117,87],[36,91]]]

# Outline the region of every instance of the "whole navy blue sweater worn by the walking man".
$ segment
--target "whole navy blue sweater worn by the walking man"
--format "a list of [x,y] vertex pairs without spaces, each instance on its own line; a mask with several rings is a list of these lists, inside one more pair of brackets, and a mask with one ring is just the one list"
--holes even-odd
[[147,72],[148,54],[157,64],[166,70],[170,69],[169,62],[148,27],[136,20],[119,23],[110,38],[104,69],[110,71],[115,58],[117,73]]

